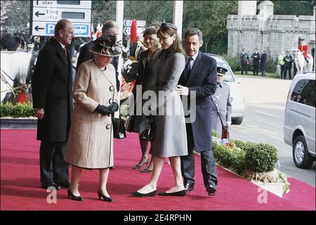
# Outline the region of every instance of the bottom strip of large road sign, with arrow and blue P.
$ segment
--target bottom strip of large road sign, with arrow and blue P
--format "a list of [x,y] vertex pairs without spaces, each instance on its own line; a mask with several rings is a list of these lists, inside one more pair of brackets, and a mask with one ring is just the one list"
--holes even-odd
[[[53,36],[57,22],[34,21],[32,34],[34,36]],[[90,37],[90,23],[74,23],[74,37]]]

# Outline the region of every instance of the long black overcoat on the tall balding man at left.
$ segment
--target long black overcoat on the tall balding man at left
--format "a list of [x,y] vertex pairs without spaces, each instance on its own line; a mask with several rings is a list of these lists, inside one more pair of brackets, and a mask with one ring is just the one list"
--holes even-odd
[[44,108],[37,125],[37,139],[67,141],[72,113],[72,69],[70,54],[65,55],[53,37],[39,52],[32,77],[33,108]]

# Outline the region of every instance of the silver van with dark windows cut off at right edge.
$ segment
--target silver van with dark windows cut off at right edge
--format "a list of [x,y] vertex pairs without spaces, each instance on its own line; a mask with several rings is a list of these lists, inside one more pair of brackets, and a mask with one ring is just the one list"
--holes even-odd
[[296,75],[291,83],[284,112],[284,142],[292,146],[298,168],[315,161],[315,72]]

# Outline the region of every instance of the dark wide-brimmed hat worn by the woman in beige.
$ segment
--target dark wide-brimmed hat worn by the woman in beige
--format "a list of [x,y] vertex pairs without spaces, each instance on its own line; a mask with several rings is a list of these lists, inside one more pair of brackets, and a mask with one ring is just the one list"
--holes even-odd
[[119,56],[121,54],[122,46],[117,43],[117,37],[112,35],[105,35],[98,37],[95,41],[92,41],[92,48],[89,50],[92,53],[101,56]]

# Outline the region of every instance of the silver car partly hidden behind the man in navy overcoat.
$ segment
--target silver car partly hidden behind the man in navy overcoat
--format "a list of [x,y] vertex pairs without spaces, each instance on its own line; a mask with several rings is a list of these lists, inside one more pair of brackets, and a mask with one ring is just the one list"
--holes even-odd
[[240,88],[240,80],[237,79],[230,68],[228,62],[221,56],[205,53],[206,56],[211,56],[217,62],[218,67],[225,68],[228,72],[225,73],[224,82],[230,86],[230,98],[232,102],[232,124],[242,124],[244,119],[244,96]]

